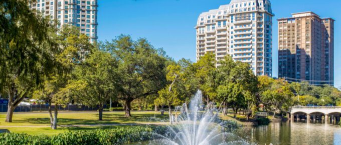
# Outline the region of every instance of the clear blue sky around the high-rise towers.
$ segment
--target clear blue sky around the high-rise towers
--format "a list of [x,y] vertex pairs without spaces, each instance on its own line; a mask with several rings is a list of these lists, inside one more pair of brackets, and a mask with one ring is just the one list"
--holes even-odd
[[[277,19],[291,13],[313,11],[335,19],[334,84],[341,86],[341,0],[270,0],[273,17],[273,71],[278,76]],[[196,61],[196,29],[201,12],[217,9],[230,0],[98,0],[98,39],[111,40],[120,34],[144,37],[155,48],[163,48],[175,60]]]

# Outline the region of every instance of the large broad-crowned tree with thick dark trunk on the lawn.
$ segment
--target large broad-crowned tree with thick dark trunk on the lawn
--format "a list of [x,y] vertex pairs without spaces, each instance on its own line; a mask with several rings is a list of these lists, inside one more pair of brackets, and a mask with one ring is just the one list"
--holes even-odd
[[125,116],[131,116],[131,102],[136,98],[157,94],[165,86],[166,58],[146,39],[133,41],[120,35],[112,42],[105,42],[102,49],[118,59],[118,99],[125,102]]

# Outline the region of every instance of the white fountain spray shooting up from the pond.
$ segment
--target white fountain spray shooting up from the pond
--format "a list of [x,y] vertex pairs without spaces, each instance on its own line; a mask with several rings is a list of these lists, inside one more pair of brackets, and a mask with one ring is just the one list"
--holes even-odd
[[189,107],[186,103],[176,107],[175,114],[179,115],[173,117],[175,123],[167,126],[165,134],[155,133],[159,139],[150,140],[147,144],[250,144],[229,131],[230,121],[221,120],[217,109],[200,111],[201,104],[202,92],[198,90]]

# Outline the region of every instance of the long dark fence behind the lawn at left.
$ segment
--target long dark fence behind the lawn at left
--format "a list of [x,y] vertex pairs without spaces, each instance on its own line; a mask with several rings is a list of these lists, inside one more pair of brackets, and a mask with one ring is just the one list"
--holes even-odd
[[[51,109],[54,110],[56,105],[51,105]],[[65,110],[65,111],[96,111],[98,107],[89,107],[86,105],[57,105],[58,110]],[[106,108],[106,105],[104,105]],[[7,112],[8,105],[0,105],[0,112]],[[49,106],[46,104],[35,104],[35,105],[18,105],[15,112],[32,112],[32,111],[48,111]]]

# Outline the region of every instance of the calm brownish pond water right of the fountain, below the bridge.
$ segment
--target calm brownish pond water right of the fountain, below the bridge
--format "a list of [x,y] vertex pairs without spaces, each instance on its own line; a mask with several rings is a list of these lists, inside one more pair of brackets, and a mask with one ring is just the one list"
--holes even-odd
[[275,122],[245,128],[257,144],[341,144],[341,128],[337,125],[306,122]]

